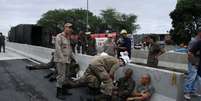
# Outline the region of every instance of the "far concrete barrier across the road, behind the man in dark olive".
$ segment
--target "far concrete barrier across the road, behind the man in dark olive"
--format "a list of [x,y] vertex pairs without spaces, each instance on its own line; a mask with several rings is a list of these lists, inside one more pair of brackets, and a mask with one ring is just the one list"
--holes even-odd
[[[135,63],[147,63],[148,51],[132,50],[132,61]],[[166,52],[159,57],[158,66],[187,71],[187,54],[179,52]]]

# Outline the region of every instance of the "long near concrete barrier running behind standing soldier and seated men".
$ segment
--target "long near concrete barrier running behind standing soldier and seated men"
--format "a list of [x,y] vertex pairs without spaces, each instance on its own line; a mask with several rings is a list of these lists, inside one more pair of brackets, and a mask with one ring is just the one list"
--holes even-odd
[[[7,43],[7,49],[45,63],[49,61],[51,52],[53,51],[53,49],[49,48],[18,43]],[[92,56],[82,54],[77,54],[75,58],[83,71],[88,67],[90,61],[93,60]],[[139,77],[143,73],[149,73],[151,75],[152,84],[156,89],[156,94],[154,94],[151,101],[183,101],[183,73],[136,64],[129,64],[124,68],[132,68],[134,70],[133,78],[136,81],[139,80]],[[121,68],[116,72],[116,79],[123,76],[124,68]]]

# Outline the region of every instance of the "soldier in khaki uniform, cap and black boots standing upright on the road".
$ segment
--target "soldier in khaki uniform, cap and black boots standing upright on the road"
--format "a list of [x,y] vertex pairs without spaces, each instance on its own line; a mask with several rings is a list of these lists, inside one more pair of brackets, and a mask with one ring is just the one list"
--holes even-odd
[[[54,62],[56,62],[57,76],[57,94],[56,97],[61,100],[65,100],[64,96],[64,82],[69,81],[70,78],[70,62],[72,58],[72,47],[70,45],[70,36],[72,33],[72,24],[66,23],[64,25],[64,31],[56,36],[55,41],[55,54]],[[71,95],[70,93],[66,93]]]

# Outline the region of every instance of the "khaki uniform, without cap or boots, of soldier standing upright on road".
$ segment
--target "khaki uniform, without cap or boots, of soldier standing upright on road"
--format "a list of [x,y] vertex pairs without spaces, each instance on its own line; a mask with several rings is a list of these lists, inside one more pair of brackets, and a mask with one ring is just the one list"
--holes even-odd
[[72,48],[69,39],[70,37],[66,37],[64,32],[56,36],[54,62],[56,62],[58,72],[57,87],[62,87],[64,81],[69,79],[72,57]]

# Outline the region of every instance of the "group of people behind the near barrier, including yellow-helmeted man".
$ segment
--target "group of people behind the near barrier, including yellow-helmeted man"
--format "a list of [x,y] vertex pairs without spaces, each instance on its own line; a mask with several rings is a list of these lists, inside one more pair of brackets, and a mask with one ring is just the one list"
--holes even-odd
[[[89,34],[88,34],[89,33]],[[123,29],[116,37],[105,37],[107,40],[103,43],[103,47],[97,50],[95,37],[90,35],[90,32],[84,33],[80,31],[78,37],[71,39],[73,52],[96,55],[98,52],[107,52],[112,56],[120,56],[120,52],[127,51],[131,57],[131,39],[128,38],[128,33]]]

